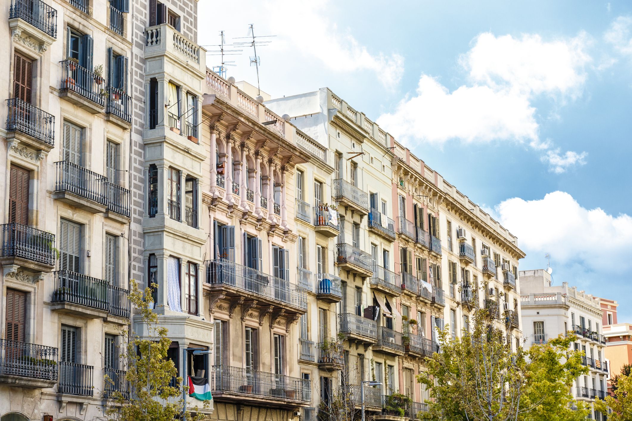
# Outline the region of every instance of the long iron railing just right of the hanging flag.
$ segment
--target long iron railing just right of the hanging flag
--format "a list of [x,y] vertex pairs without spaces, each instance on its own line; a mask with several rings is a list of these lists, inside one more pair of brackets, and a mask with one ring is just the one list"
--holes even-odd
[[213,375],[211,383],[215,391],[308,401],[304,391],[310,384],[305,379],[230,365],[214,365]]

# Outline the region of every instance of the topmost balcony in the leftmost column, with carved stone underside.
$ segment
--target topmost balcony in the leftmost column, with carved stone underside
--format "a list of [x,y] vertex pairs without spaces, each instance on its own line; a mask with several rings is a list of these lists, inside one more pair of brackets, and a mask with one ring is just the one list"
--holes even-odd
[[9,31],[43,54],[57,38],[57,11],[40,0],[11,0]]

